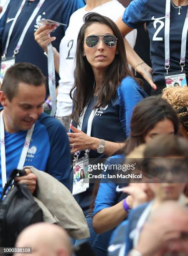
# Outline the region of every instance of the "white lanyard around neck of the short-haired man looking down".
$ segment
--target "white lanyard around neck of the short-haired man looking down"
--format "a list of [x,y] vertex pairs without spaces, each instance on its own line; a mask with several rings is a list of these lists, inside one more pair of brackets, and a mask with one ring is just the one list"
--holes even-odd
[[[25,142],[23,145],[22,153],[20,155],[20,161],[18,163],[17,168],[23,169],[23,165],[25,163],[25,159],[28,153],[28,148],[30,144],[30,140],[33,134],[35,124],[28,130],[28,133],[25,138]],[[3,121],[3,111],[0,114],[0,149],[1,149],[1,176],[2,176],[2,187],[7,183],[7,175],[6,175],[6,155],[5,155],[5,127]]]

